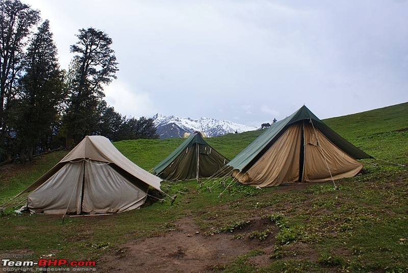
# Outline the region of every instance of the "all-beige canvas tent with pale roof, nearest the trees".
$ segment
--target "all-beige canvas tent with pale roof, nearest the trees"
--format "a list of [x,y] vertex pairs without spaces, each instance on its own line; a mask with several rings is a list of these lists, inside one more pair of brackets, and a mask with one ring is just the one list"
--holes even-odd
[[115,213],[139,208],[160,179],[121,154],[105,137],[85,137],[54,168],[19,195],[31,212]]

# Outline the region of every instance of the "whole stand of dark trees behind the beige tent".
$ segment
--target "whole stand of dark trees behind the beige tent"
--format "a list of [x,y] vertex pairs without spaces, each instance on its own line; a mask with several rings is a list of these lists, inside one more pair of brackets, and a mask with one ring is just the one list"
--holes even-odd
[[151,118],[126,118],[103,99],[104,86],[119,70],[106,33],[79,30],[65,71],[40,11],[19,0],[0,0],[0,12],[0,162],[71,149],[85,135],[158,138]]

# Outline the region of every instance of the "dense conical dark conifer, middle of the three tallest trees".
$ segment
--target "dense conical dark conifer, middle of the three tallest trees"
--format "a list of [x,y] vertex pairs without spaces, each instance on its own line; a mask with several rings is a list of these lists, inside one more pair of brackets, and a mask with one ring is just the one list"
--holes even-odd
[[22,162],[25,152],[28,151],[31,160],[35,147],[50,134],[66,98],[63,71],[59,68],[57,47],[48,20],[39,26],[31,39],[24,66],[26,73],[19,81],[19,96],[13,115]]

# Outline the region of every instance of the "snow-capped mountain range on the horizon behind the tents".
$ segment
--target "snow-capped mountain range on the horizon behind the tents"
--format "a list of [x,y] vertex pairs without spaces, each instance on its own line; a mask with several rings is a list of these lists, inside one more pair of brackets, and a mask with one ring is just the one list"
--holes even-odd
[[164,116],[156,114],[155,127],[161,139],[183,138],[185,132],[193,131],[204,132],[208,138],[246,131],[256,130],[256,127],[250,127],[243,124],[234,123],[227,120],[215,120],[209,118],[199,118],[196,120],[190,118],[179,118],[175,116]]

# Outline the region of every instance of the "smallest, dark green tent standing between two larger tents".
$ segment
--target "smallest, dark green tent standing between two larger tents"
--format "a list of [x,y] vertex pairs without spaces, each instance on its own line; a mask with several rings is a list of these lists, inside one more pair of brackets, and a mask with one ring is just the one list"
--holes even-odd
[[190,136],[155,168],[155,173],[165,180],[189,180],[223,176],[219,172],[226,163],[226,157],[214,150],[202,139],[199,132]]

